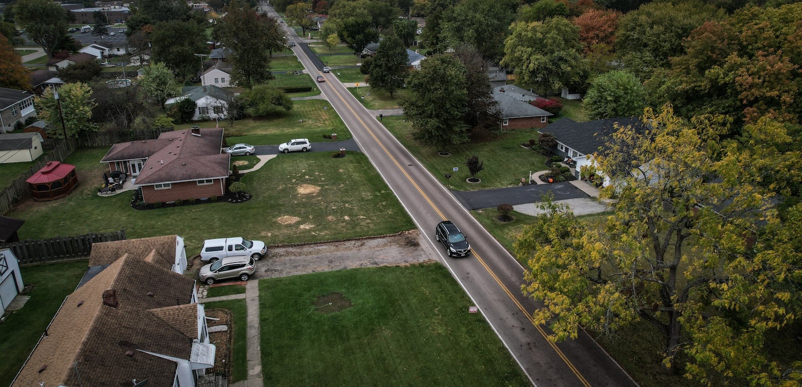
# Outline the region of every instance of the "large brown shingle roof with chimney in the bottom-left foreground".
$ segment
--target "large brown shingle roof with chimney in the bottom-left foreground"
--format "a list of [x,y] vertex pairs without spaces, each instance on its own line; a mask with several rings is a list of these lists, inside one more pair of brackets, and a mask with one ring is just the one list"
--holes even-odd
[[[188,277],[121,257],[67,297],[14,385],[128,385],[134,378],[172,385],[176,363],[139,350],[188,359],[192,340],[147,311],[188,303],[193,286]],[[116,291],[116,308],[103,304],[107,289]]]

